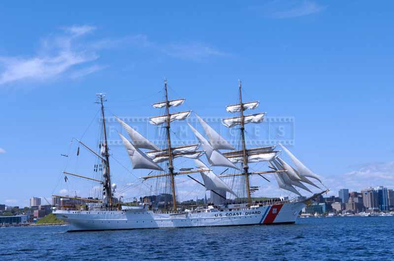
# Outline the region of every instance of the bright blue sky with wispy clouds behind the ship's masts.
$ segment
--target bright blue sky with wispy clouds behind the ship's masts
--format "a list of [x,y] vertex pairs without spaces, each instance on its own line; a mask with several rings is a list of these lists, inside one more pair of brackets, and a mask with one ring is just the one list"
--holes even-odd
[[[241,80],[244,100],[260,101],[252,113],[267,112],[271,119],[262,129],[249,124],[249,137],[289,142],[330,195],[340,188],[394,188],[393,5],[1,2],[0,203],[84,196],[91,184],[76,188],[61,172],[86,174],[94,158],[85,151],[79,161],[61,154],[75,154],[74,137],[95,145],[95,93],[106,93],[108,116],[146,119],[159,115],[151,104],[162,100],[164,78],[170,98],[186,98],[174,111],[213,119],[231,116],[225,106],[237,102]],[[109,125],[109,138],[119,140],[121,129]],[[149,127],[144,135],[153,138],[154,132]],[[111,153],[122,163],[112,160],[114,182],[130,187],[124,196],[142,195],[145,185],[137,177],[143,172],[131,170],[122,146]],[[272,182],[253,177],[258,196],[287,195],[267,177]],[[178,185],[181,200],[203,197],[203,188],[190,193],[193,182]]]

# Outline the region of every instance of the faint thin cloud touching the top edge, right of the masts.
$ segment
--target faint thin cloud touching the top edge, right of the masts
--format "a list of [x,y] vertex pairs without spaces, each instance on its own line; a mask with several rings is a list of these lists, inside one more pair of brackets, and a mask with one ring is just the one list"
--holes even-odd
[[253,7],[253,9],[260,10],[266,17],[278,19],[311,15],[319,13],[326,8],[327,6],[325,5],[320,5],[314,1],[309,0],[273,0],[262,6]]

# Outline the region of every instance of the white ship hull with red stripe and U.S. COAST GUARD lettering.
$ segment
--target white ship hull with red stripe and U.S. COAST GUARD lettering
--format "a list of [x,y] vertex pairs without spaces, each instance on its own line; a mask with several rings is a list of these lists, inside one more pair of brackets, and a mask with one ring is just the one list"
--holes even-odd
[[255,209],[217,212],[155,213],[151,210],[54,210],[72,231],[189,228],[214,226],[293,224],[303,202],[263,205]]

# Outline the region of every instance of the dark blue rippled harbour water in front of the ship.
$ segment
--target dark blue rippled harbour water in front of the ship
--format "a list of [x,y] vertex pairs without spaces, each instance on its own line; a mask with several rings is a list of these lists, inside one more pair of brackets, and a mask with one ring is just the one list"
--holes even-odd
[[394,260],[394,217],[295,225],[66,233],[0,229],[0,260]]

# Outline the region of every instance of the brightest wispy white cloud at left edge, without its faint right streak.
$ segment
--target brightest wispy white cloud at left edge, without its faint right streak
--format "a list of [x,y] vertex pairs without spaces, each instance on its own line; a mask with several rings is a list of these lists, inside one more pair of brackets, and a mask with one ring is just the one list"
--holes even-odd
[[0,57],[3,67],[0,71],[0,85],[22,80],[53,79],[75,65],[98,59],[97,53],[86,50],[78,43],[80,36],[93,29],[89,26],[66,28],[70,34],[41,40],[40,50],[29,58]]

